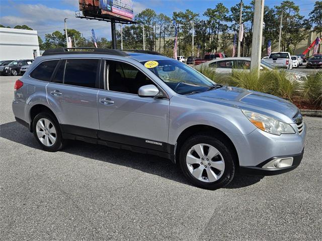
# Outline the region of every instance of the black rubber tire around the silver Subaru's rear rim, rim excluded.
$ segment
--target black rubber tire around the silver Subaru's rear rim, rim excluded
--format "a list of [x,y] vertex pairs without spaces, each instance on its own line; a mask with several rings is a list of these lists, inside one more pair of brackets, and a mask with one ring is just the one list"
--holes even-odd
[[[41,118],[48,119],[52,123],[52,125],[55,127],[55,129],[56,129],[56,141],[55,141],[54,145],[52,145],[50,147],[45,146],[39,140],[39,138],[37,136],[37,133],[36,133],[36,125],[37,125],[37,122],[39,121],[39,119],[41,119]],[[61,135],[61,131],[60,131],[60,128],[59,128],[59,124],[57,122],[57,119],[52,114],[46,113],[46,112],[42,112],[42,113],[37,114],[35,116],[35,118],[33,119],[33,122],[32,122],[32,130],[33,130],[33,133],[34,133],[34,136],[35,136],[37,142],[39,143],[39,145],[41,146],[41,148],[44,151],[47,151],[47,152],[57,152],[57,151],[59,151],[59,150],[61,150],[63,148],[65,142],[62,139],[62,135]]]

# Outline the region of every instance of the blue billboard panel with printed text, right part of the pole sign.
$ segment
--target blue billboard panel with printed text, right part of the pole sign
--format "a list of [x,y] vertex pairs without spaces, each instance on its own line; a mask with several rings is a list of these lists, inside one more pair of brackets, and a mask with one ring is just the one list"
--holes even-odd
[[133,19],[132,0],[100,0],[100,9]]

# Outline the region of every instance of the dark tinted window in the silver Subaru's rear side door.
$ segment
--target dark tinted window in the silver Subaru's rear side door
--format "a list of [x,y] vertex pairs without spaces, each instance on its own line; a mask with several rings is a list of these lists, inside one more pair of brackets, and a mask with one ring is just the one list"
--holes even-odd
[[64,84],[95,88],[98,59],[68,59]]

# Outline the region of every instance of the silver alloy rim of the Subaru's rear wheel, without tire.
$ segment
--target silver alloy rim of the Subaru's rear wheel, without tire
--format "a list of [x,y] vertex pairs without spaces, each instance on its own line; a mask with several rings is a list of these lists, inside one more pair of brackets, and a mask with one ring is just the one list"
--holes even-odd
[[46,147],[51,147],[56,142],[56,129],[47,118],[41,118],[36,124],[36,134],[39,141]]

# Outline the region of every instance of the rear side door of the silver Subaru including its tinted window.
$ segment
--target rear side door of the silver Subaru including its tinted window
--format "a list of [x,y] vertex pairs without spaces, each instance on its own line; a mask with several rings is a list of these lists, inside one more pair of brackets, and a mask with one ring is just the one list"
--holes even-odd
[[47,99],[63,133],[97,138],[100,59],[64,59],[47,85]]

